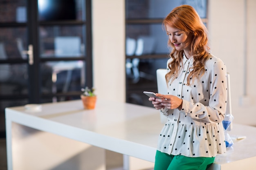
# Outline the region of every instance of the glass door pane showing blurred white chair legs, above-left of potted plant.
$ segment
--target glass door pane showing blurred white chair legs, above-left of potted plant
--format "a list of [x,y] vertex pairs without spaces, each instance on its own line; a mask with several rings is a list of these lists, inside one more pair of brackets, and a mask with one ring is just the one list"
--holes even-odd
[[42,92],[81,91],[85,85],[85,62],[60,61],[41,64]]

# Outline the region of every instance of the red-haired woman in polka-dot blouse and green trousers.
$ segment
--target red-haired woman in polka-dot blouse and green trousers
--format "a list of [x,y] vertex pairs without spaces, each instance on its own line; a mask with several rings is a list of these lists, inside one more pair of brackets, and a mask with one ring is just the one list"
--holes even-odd
[[155,170],[206,170],[218,153],[226,152],[226,66],[209,53],[207,29],[193,7],[176,7],[163,25],[172,51],[168,95],[149,98],[168,117],[159,135]]

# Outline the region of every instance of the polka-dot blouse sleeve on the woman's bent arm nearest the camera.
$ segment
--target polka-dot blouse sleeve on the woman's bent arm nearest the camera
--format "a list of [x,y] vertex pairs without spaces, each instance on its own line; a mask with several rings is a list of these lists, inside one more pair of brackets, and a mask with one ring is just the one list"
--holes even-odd
[[220,60],[213,64],[209,73],[209,105],[183,100],[181,112],[206,122],[220,123],[224,117],[227,106],[227,71],[225,64]]

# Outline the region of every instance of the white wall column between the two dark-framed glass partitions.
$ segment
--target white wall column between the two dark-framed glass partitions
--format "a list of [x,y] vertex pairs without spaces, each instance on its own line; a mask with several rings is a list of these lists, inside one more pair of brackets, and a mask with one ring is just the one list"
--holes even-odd
[[124,0],[92,0],[92,56],[97,96],[125,102]]

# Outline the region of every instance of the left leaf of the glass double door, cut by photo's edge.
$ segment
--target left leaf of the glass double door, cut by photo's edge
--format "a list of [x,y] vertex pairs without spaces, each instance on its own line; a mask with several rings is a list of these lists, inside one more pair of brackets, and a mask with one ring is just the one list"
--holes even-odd
[[[29,103],[26,0],[0,0],[0,136],[5,135],[4,108]],[[24,50],[25,51],[25,50]]]

